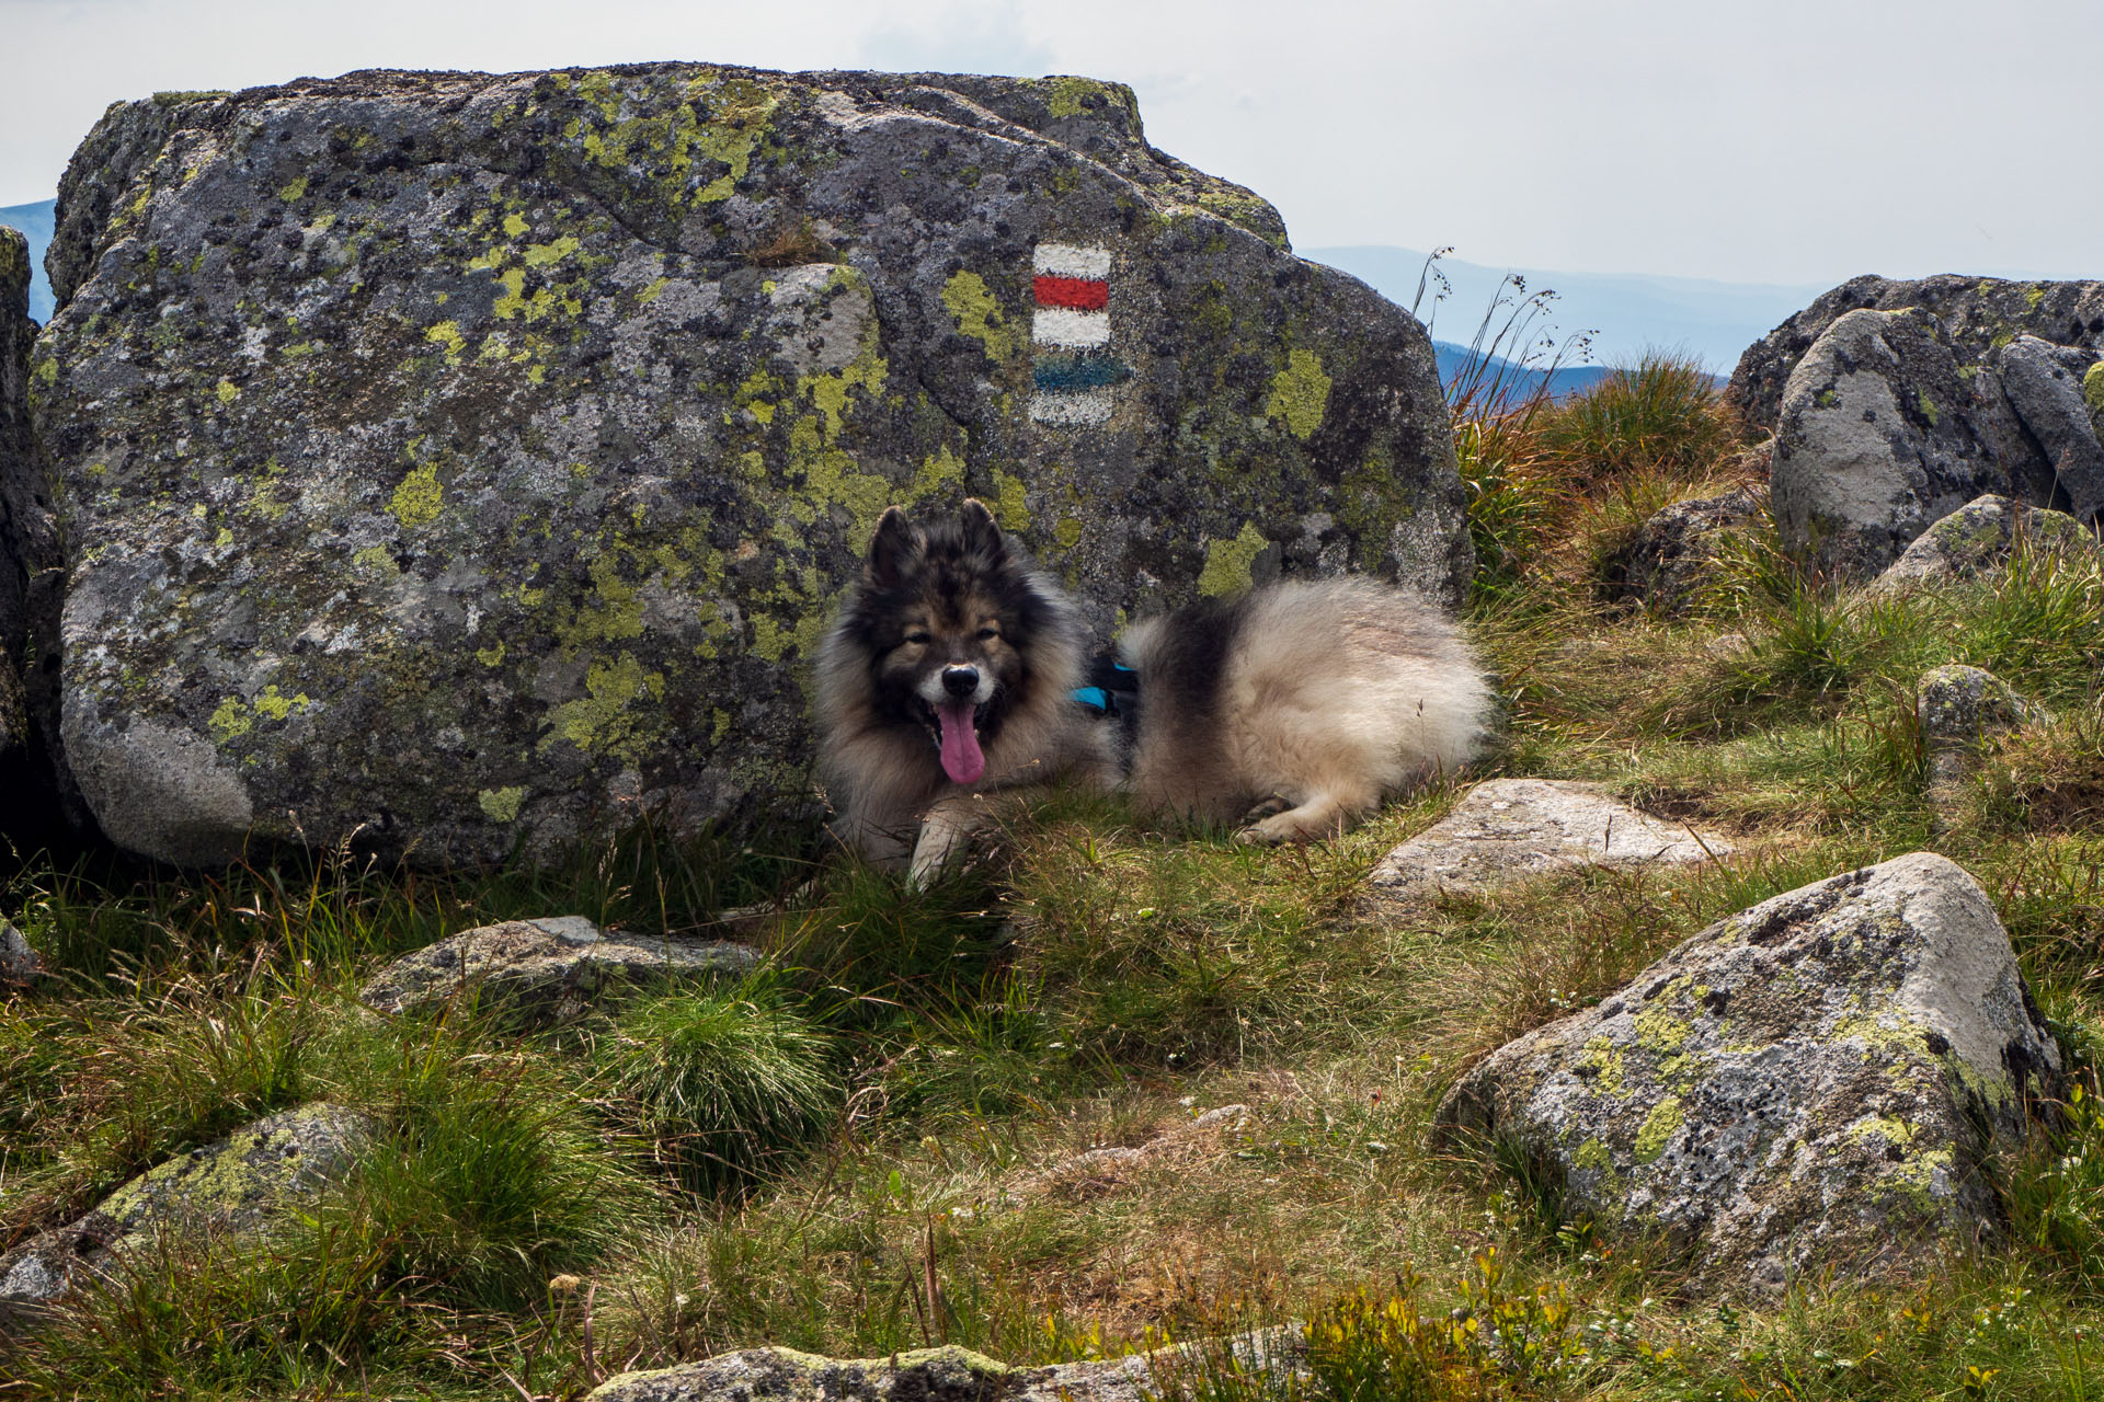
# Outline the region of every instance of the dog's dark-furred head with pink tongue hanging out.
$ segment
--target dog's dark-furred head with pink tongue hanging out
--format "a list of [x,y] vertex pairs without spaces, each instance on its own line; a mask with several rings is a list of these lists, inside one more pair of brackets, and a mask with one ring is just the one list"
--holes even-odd
[[983,746],[1027,698],[1031,647],[1056,607],[980,502],[926,528],[892,507],[846,626],[879,706],[926,727],[943,771],[972,784],[987,769]]

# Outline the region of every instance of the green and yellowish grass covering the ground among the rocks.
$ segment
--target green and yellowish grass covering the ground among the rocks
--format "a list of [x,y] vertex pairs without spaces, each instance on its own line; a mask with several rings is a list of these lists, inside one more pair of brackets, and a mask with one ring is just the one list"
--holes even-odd
[[[0,914],[57,977],[0,1003],[0,1240],[271,1110],[343,1104],[377,1133],[269,1236],[173,1234],[0,1343],[0,1398],[547,1400],[755,1343],[1054,1362],[1170,1339],[1195,1347],[1164,1394],[1222,1400],[2104,1396],[2104,580],[2020,551],[1873,599],[1755,525],[1690,618],[1618,607],[1614,540],[1734,469],[1671,364],[1612,385],[1464,416],[1473,618],[1509,713],[1490,767],[1605,782],[1736,858],[1365,906],[1368,868],[1456,786],[1281,851],[1054,799],[919,895],[818,862],[806,830],[650,824],[457,877],[351,851],[25,862]],[[1936,811],[1913,704],[1944,662],[2035,710]],[[1999,1249],[1717,1301],[1525,1156],[1431,1152],[1473,1059],[1711,921],[1921,847],[1988,889],[2083,1087],[1997,1164]],[[555,1030],[356,1005],[469,925],[703,933],[760,900],[783,912],[753,977]],[[1246,1116],[1191,1131],[1227,1104]],[[1311,1331],[1302,1379],[1201,1343],[1286,1322]]]

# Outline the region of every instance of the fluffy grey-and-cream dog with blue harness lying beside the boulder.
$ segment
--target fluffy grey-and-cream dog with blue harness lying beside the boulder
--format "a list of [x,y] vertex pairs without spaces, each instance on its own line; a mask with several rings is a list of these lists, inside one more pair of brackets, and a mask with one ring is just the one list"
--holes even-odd
[[1492,700],[1443,612],[1363,578],[1136,624],[1124,729],[1075,698],[1088,652],[1073,603],[980,502],[926,528],[886,511],[818,656],[839,837],[924,885],[989,820],[989,795],[1119,780],[1140,811],[1233,822],[1241,841],[1332,837],[1475,759]]

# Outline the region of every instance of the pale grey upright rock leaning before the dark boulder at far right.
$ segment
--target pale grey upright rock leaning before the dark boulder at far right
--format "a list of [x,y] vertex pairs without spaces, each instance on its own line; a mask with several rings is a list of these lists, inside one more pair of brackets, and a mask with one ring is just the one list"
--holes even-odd
[[1974,393],[1942,326],[1852,311],[1791,372],[1769,492],[1784,549],[1839,576],[1889,565],[1938,519],[2007,492],[2007,408]]

